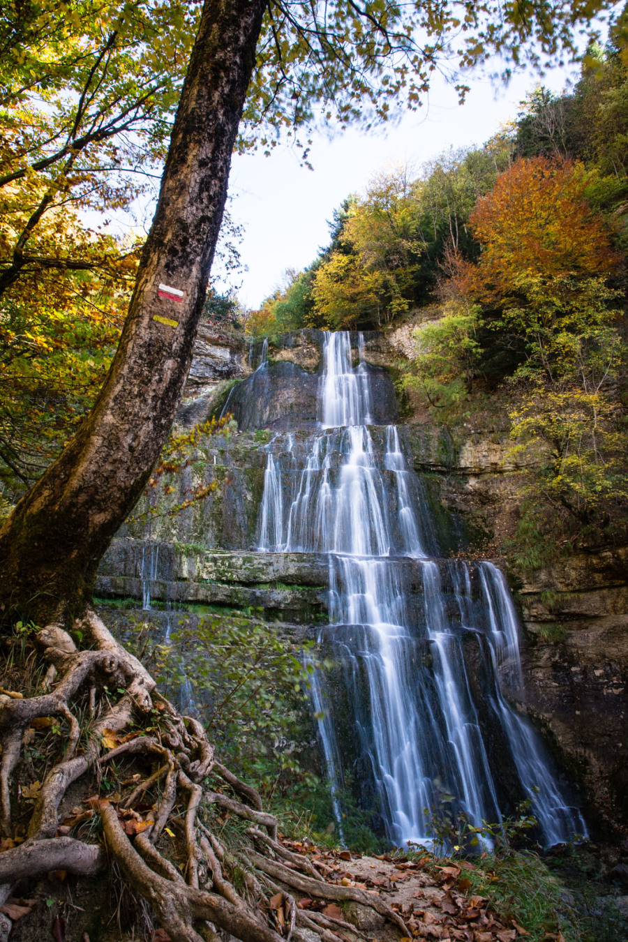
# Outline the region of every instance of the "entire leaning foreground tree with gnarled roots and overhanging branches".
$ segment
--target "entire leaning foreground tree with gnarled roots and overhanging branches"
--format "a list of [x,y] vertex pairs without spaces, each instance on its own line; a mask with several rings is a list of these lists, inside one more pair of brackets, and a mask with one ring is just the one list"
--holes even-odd
[[[502,7],[491,0],[462,4],[426,0],[416,7],[386,2],[362,7],[353,0],[325,7],[274,0],[205,0],[118,351],[92,412],[0,531],[3,621],[8,625],[15,613],[24,612],[44,625],[37,634],[40,654],[35,657],[39,664],[43,658],[49,665],[42,686],[24,687],[22,697],[2,694],[0,824],[6,843],[0,853],[0,885],[60,867],[89,874],[104,865],[99,844],[57,833],[69,789],[74,796],[83,788],[102,820],[109,858],[151,902],[173,942],[216,940],[217,929],[247,942],[279,942],[282,936],[258,912],[264,896],[261,881],[268,886],[274,879],[306,886],[314,896],[329,899],[333,890],[336,900],[370,905],[403,935],[409,934],[403,919],[377,895],[358,887],[323,884],[311,865],[282,852],[276,841],[277,822],[261,809],[254,789],[217,763],[201,724],[193,718],[184,720],[160,697],[151,676],[90,609],[91,583],[106,544],[151,473],[184,387],[243,112],[249,126],[266,116],[271,130],[287,122],[298,127],[327,111],[335,111],[341,122],[384,118],[399,101],[416,106],[447,53],[456,55],[465,67],[495,49],[516,58],[525,48],[532,49],[533,58],[552,55],[572,46],[574,24],[603,7],[602,2],[574,0],[571,5],[553,6],[552,17],[544,6],[523,17],[519,6]],[[153,6],[123,7],[137,15],[147,8]],[[43,54],[32,62],[32,81],[20,73],[24,42],[37,44],[42,36],[60,43],[63,52],[66,14],[73,20],[82,8],[16,4],[10,9],[15,12],[13,39],[18,39],[11,44],[9,36],[3,47],[7,71],[17,72],[11,94],[22,94],[25,88],[32,106],[52,79],[48,56]],[[159,24],[157,18],[157,32],[164,42],[176,36],[168,20],[171,9],[180,8],[167,5],[166,21]],[[73,56],[78,61],[88,55],[98,71],[105,68],[109,54],[113,56],[118,30],[115,24],[105,24],[101,32],[95,25],[97,35],[92,39],[89,30],[98,14],[92,8],[86,14],[86,38]],[[140,34],[135,54],[141,58],[148,55],[151,42],[141,29]],[[20,42],[19,55],[11,59],[11,48]],[[179,55],[179,49],[172,53]],[[155,56],[159,70],[168,57],[158,49]],[[137,87],[141,101],[149,106],[152,95],[158,101],[159,89],[151,84],[150,64],[142,74],[148,81],[144,91],[148,97],[142,94],[141,76]],[[77,86],[78,95],[72,89],[68,96],[74,114],[77,102],[83,113],[81,102],[87,107],[102,88],[99,80],[92,85],[88,79],[89,74]],[[117,100],[115,94],[111,100]],[[46,108],[42,110],[44,117],[38,121],[45,119]],[[59,186],[66,186],[72,169],[80,179],[79,155],[87,152],[79,147],[79,138],[72,137],[73,126],[71,121],[56,150],[34,155],[27,165],[18,163],[8,173],[18,175],[14,180],[25,179],[52,167],[42,161],[54,157],[55,166],[61,168]],[[24,146],[19,145],[24,151],[35,136],[26,138]],[[10,286],[20,277],[30,232],[55,194],[56,187],[44,193],[15,241],[4,284]],[[78,716],[89,718],[84,728]],[[24,733],[32,723],[49,717],[63,726],[65,735],[59,737],[61,749],[51,756],[34,797],[27,837],[18,844],[9,780],[21,760]],[[128,761],[139,776],[125,798],[131,805],[126,809],[101,799],[97,790],[94,796],[102,771],[113,761]],[[208,785],[210,774],[217,788]],[[226,788],[232,789],[233,797]],[[142,819],[133,805],[145,794],[151,796],[153,817]],[[258,850],[247,849],[244,865],[231,859],[199,820],[203,798],[253,826]],[[173,844],[164,840],[169,822]],[[270,860],[269,848],[291,866]],[[179,858],[181,868],[169,860],[169,853]],[[294,867],[309,868],[308,875]],[[241,877],[239,888],[231,879],[235,871]],[[303,913],[299,916],[291,895],[284,897],[291,933],[298,920],[299,927],[326,936],[329,930]]]

